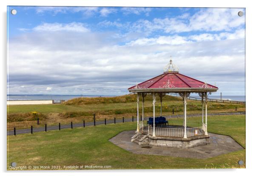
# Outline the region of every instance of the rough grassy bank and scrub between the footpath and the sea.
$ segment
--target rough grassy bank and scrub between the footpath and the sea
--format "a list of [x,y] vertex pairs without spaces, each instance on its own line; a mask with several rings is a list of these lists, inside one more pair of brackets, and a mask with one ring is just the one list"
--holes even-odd
[[[101,100],[102,99],[102,100]],[[127,101],[127,102],[126,102]],[[139,112],[142,112],[142,100],[139,104]],[[31,105],[9,105],[7,106],[7,129],[14,127],[29,128],[31,125],[43,126],[58,123],[69,124],[92,121],[94,114],[96,121],[116,118],[131,118],[137,115],[137,96],[134,94],[117,97],[97,97],[71,99],[64,104],[31,104]],[[237,109],[236,109],[237,107]],[[183,114],[183,102],[179,97],[164,96],[162,102],[162,115]],[[245,111],[244,104],[224,104],[208,102],[208,112],[236,112]],[[202,103],[200,101],[188,100],[188,114],[201,113]],[[36,115],[34,114],[36,112]],[[145,116],[151,116],[153,112],[152,97],[146,96],[144,104]],[[160,113],[159,97],[156,99],[156,114]],[[141,113],[139,113],[141,115]],[[40,124],[37,125],[37,118]]]

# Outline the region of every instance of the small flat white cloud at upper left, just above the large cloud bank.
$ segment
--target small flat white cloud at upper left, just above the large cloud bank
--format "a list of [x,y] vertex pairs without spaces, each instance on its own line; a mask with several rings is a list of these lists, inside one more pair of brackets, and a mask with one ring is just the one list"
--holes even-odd
[[67,24],[63,23],[43,23],[33,28],[35,31],[74,31],[74,32],[88,32],[89,29],[85,27],[83,23],[71,22]]

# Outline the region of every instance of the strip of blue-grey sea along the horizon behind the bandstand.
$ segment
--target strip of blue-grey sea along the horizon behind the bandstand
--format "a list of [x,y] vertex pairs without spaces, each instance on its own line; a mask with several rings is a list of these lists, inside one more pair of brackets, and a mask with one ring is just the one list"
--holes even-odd
[[[114,97],[114,96],[103,96],[103,95],[48,95],[48,94],[37,94],[37,95],[18,95],[18,94],[9,94],[7,95],[7,100],[54,100],[54,102],[59,102],[60,100],[69,100],[79,97]],[[199,96],[193,96],[200,98]],[[209,99],[220,99],[220,96],[208,96]],[[241,101],[245,102],[245,96],[237,96],[237,95],[230,95],[230,96],[222,96],[222,99],[225,100],[232,100],[232,101]]]

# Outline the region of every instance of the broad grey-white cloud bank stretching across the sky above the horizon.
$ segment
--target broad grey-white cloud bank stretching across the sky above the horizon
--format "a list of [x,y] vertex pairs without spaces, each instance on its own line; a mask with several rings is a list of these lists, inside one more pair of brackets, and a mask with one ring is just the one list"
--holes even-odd
[[10,38],[9,93],[47,93],[49,87],[51,93],[124,94],[136,82],[161,74],[170,55],[182,74],[216,82],[225,92],[228,84],[238,93],[244,90],[244,38],[191,43],[174,35],[119,46],[122,38],[112,40],[113,33],[54,31]]

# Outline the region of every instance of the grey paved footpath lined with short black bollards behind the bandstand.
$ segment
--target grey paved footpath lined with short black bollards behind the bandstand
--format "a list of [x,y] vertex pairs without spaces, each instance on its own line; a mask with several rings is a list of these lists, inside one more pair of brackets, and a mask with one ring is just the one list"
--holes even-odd
[[[245,114],[245,112],[233,112],[233,113],[208,113],[208,115],[239,115],[239,114]],[[200,116],[202,114],[188,114],[187,117],[193,117],[193,116]],[[183,117],[183,114],[180,115],[165,115],[166,118],[178,118]],[[144,120],[148,120],[149,117],[145,117]],[[140,120],[140,118],[139,118]],[[131,122],[132,118],[124,118],[124,122]],[[134,117],[134,122],[137,121],[137,117]],[[122,123],[122,118],[116,119],[116,123]],[[105,121],[95,121],[95,125],[101,125],[105,124]],[[112,120],[106,120],[106,124],[114,124],[114,119]],[[85,126],[93,126],[94,122],[85,122]],[[73,128],[76,127],[83,127],[83,123],[73,123]],[[68,129],[71,128],[71,124],[63,124],[60,126],[60,129]],[[59,130],[59,125],[53,125],[53,126],[47,126],[47,131],[49,130]],[[34,127],[33,126],[33,133],[34,132],[43,132],[45,131],[45,127]],[[24,133],[31,133],[31,129],[16,129],[16,135],[18,134],[24,134]],[[14,130],[7,130],[7,135],[14,135]]]

